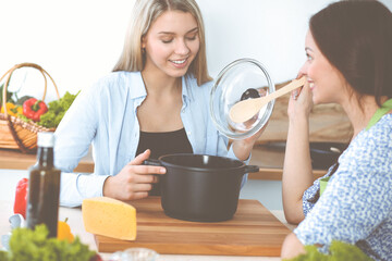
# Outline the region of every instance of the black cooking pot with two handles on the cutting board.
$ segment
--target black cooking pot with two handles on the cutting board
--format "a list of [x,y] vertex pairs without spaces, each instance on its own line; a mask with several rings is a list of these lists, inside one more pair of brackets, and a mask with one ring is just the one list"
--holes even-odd
[[161,202],[171,217],[217,222],[233,217],[245,173],[259,167],[230,158],[205,154],[168,154],[145,164],[161,165]]

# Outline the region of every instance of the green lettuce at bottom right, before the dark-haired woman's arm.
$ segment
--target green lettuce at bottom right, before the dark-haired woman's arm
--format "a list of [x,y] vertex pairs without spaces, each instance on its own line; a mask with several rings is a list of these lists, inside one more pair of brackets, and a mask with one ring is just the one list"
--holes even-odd
[[[316,246],[305,246],[306,253],[299,254],[290,261],[371,261],[372,259],[366,256],[357,246],[343,241],[332,240],[330,246],[330,254],[324,254],[318,251]],[[289,260],[287,260],[289,261]]]

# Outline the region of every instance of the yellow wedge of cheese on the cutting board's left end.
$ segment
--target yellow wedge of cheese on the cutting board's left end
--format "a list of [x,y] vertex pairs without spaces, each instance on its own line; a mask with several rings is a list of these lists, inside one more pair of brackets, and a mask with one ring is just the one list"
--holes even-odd
[[86,232],[124,240],[136,239],[136,209],[120,200],[98,197],[83,200]]

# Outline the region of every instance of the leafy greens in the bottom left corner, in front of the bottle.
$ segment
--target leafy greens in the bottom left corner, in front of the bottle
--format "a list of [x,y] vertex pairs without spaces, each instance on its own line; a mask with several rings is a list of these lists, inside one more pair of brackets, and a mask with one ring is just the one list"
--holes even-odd
[[10,239],[10,251],[0,251],[0,261],[89,261],[96,256],[76,237],[74,241],[48,238],[48,228],[15,228]]

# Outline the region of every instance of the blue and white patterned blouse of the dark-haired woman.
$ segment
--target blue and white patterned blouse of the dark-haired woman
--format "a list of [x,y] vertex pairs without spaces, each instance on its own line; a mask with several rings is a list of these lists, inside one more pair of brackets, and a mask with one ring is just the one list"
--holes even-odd
[[342,240],[375,260],[392,260],[392,114],[352,140],[322,196],[310,203],[319,188],[318,179],[303,197],[306,217],[294,229],[302,244],[327,251],[332,239]]

